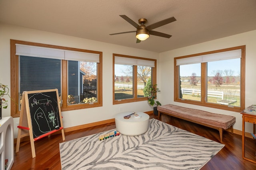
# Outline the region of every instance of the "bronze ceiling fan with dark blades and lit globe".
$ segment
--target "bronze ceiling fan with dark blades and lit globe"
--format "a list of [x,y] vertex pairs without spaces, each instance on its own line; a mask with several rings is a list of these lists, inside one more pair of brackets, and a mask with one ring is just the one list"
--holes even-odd
[[171,23],[173,21],[176,21],[176,19],[174,17],[171,17],[171,18],[167,18],[165,20],[158,21],[156,23],[153,23],[151,25],[146,26],[146,25],[144,25],[147,22],[147,20],[145,18],[140,18],[139,23],[141,25],[138,25],[136,22],[132,21],[130,18],[128,18],[125,15],[120,15],[120,17],[122,17],[124,20],[126,20],[127,22],[132,24],[134,27],[136,27],[137,30],[136,31],[122,32],[122,33],[113,33],[113,34],[110,34],[110,35],[136,32],[136,38],[137,38],[136,43],[140,43],[140,41],[146,40],[149,37],[149,35],[156,35],[156,36],[165,37],[165,38],[172,37],[172,35],[168,35],[166,33],[160,33],[158,31],[152,31],[152,29],[155,29],[155,28],[161,27],[163,25],[166,25],[168,23]]

